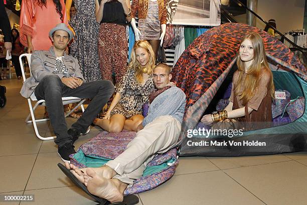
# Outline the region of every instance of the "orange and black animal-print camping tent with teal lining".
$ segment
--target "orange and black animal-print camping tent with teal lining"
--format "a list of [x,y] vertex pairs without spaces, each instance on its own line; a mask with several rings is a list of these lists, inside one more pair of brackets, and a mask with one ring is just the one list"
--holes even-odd
[[[173,81],[187,95],[180,156],[240,156],[307,150],[306,109],[292,123],[247,131],[231,139],[223,136],[202,138],[197,135],[187,138],[188,131],[196,127],[231,72],[242,37],[251,32],[259,33],[263,39],[267,59],[274,67],[272,72],[275,88],[287,89],[292,97],[305,97],[307,94],[306,68],[278,39],[245,24],[228,23],[210,29],[184,51],[172,70]],[[201,143],[191,146],[191,141]],[[206,141],[209,145],[206,145]],[[230,146],[229,143],[217,146],[210,144],[211,141],[258,141],[265,142],[265,146]]]

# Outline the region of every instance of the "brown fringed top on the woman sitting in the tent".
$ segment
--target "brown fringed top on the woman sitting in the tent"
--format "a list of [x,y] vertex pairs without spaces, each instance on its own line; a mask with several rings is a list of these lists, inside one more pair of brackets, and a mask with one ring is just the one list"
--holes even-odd
[[[245,77],[244,74],[243,77]],[[253,130],[268,127],[268,123],[272,122],[272,97],[270,95],[270,74],[268,72],[262,72],[258,87],[254,91],[254,96],[247,102],[244,106],[242,101],[238,99],[236,93],[234,93],[234,87],[238,82],[239,72],[236,71],[233,75],[233,89],[231,90],[231,95],[229,101],[233,102],[232,110],[245,107],[245,116],[238,118],[241,122],[246,122],[248,128],[245,130]],[[242,83],[242,82],[241,82]],[[239,92],[243,91],[239,90]],[[249,114],[248,107],[252,108],[253,111]],[[251,122],[262,122],[251,123]]]

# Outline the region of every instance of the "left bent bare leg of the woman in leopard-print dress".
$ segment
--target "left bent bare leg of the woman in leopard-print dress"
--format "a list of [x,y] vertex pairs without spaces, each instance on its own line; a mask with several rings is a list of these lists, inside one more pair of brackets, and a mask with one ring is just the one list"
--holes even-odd
[[93,121],[93,124],[98,125],[105,131],[118,133],[122,131],[125,124],[125,120],[125,116],[121,114],[115,114],[110,117],[110,120],[95,119]]

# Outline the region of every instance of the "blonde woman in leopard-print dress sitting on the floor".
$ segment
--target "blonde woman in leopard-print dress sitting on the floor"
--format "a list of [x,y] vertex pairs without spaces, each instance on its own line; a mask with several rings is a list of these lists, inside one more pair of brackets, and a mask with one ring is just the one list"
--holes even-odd
[[142,105],[148,100],[148,95],[155,89],[152,73],[155,67],[155,54],[150,44],[145,40],[136,41],[128,69],[119,86],[116,95],[103,119],[93,123],[108,132],[121,132],[123,129],[136,131],[143,121]]

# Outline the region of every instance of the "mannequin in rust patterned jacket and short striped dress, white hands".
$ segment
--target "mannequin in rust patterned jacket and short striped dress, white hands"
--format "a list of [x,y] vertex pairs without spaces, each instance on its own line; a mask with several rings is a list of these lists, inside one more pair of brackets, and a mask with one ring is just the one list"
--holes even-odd
[[[133,0],[131,26],[135,40],[147,40],[157,57],[159,43],[163,44],[167,24],[167,0]],[[135,15],[138,11],[138,28]],[[149,23],[151,25],[149,25]]]

